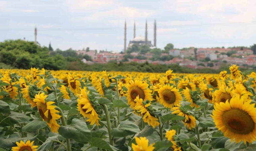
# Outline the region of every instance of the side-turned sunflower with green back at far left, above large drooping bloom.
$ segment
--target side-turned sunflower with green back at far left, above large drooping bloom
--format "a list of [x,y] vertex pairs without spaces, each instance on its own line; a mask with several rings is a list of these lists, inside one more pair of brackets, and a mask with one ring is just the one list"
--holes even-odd
[[34,102],[33,99],[35,98],[35,95],[38,91],[40,91],[40,89],[35,85],[29,85],[21,89],[23,98],[26,100],[26,102],[28,102],[31,105],[31,107],[36,106],[36,102]]

